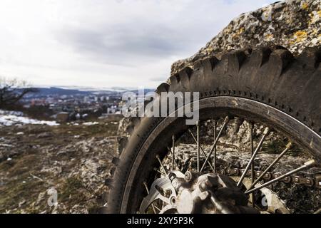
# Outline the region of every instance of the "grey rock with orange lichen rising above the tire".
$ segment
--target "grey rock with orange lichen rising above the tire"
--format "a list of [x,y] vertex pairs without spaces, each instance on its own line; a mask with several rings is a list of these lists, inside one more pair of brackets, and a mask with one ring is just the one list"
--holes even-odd
[[199,59],[220,58],[231,49],[270,44],[284,46],[294,55],[321,43],[321,0],[281,1],[241,14],[194,56],[173,63],[171,75]]

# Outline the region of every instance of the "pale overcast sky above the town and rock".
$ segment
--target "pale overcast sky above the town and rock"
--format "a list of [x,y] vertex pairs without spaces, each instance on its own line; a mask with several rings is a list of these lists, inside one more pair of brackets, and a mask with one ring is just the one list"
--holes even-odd
[[0,76],[35,86],[156,87],[270,0],[1,0]]

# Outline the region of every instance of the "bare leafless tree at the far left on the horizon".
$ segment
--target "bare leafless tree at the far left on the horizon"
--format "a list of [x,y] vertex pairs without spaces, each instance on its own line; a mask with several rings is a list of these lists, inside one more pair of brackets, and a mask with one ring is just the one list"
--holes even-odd
[[26,81],[19,81],[16,78],[8,79],[0,77],[0,108],[7,105],[14,105],[27,93],[36,92]]

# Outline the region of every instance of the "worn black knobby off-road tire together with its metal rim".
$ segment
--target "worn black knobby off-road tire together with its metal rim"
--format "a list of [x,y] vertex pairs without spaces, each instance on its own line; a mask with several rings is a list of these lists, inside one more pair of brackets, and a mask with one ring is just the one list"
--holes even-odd
[[[207,106],[200,106],[206,110],[210,104],[213,110],[200,111],[201,118],[202,115],[213,116],[220,112],[253,116],[257,121],[264,120],[282,130],[320,159],[320,52],[320,46],[307,48],[297,57],[281,46],[230,51],[220,60],[212,56],[196,62],[193,69],[183,69],[170,77],[170,83],[162,83],[157,92],[198,91],[200,103],[207,103]],[[221,99],[217,109],[215,98]],[[255,105],[247,106],[250,101],[255,101]],[[238,102],[243,103],[239,106],[246,108],[241,110]],[[270,110],[265,113],[265,108],[275,110],[279,118],[275,118]],[[146,194],[142,183],[151,178],[148,172],[153,172],[151,169],[157,164],[156,153],[164,156],[161,151],[170,145],[170,134],[179,135],[187,129],[178,127],[185,123],[180,119],[183,118],[134,119],[131,138],[113,176],[106,212],[137,212]],[[295,125],[290,123],[292,120]]]

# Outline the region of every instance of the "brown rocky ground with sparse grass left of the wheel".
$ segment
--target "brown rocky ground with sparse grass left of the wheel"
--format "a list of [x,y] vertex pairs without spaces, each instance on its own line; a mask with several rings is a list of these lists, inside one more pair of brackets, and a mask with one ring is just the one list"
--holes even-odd
[[[106,203],[117,128],[108,119],[1,126],[0,213],[97,212]],[[58,204],[49,207],[53,188]]]

